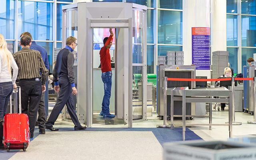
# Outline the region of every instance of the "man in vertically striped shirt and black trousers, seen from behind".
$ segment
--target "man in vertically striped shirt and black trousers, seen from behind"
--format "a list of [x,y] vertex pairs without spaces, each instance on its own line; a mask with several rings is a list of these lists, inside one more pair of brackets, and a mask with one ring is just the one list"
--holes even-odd
[[[28,114],[30,139],[33,140],[36,125],[36,115],[42,92],[45,92],[45,83],[48,78],[48,70],[40,52],[30,49],[31,38],[22,36],[20,46],[22,50],[16,52],[13,57],[18,65],[18,79],[21,88],[22,113]],[[42,76],[40,76],[40,71]],[[28,98],[29,108],[28,108]]]

